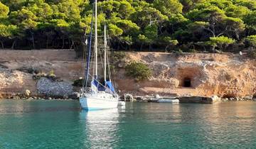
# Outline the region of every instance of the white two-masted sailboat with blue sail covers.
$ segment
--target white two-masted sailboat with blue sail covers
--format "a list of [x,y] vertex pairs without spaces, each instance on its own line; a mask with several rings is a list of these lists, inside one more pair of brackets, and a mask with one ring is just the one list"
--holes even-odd
[[[92,49],[92,28],[93,23],[91,22],[91,31],[89,38],[89,50],[87,53],[86,69],[85,69],[85,80],[80,89],[80,105],[85,110],[100,110],[100,109],[114,109],[117,108],[119,96],[114,90],[110,73],[107,80],[107,26],[104,27],[104,82],[99,81],[98,76],[98,41],[97,41],[97,0],[95,0],[95,11],[94,15],[92,12],[92,18],[95,16],[95,41],[94,41],[94,55],[93,55],[93,74],[90,74],[90,57]],[[93,21],[93,19],[92,19]],[[108,67],[110,72],[110,67]],[[87,87],[87,82],[91,78],[90,87]]]

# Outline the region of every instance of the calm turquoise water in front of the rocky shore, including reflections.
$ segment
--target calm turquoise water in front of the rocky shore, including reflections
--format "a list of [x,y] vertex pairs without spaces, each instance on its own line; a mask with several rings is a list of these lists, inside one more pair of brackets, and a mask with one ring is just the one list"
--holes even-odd
[[80,111],[78,101],[0,101],[0,148],[255,148],[256,102],[127,103]]

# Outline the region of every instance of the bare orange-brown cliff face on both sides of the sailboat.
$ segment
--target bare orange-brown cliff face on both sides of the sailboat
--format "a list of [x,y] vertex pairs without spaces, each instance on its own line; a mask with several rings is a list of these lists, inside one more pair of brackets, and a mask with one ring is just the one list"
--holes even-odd
[[[137,95],[161,94],[180,96],[246,96],[256,94],[256,61],[245,56],[228,54],[126,53],[124,61],[144,62],[153,70],[146,81],[136,82],[125,75],[119,65],[114,75],[123,93]],[[82,77],[82,60],[75,52],[61,50],[0,50],[0,94],[23,92],[37,94],[37,82],[20,68],[53,70],[55,75],[70,82]]]

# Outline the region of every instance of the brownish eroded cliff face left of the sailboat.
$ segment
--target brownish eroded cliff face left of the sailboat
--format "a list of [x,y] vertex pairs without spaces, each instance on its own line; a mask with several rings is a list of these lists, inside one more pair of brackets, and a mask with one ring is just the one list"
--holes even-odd
[[[0,94],[38,94],[38,81],[29,70],[53,73],[65,82],[82,77],[82,60],[70,50],[0,50]],[[50,87],[48,87],[50,88]]]

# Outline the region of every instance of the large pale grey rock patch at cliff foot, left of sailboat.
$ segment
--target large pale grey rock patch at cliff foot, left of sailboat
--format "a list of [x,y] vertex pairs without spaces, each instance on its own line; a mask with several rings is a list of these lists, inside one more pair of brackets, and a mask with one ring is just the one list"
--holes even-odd
[[38,80],[36,88],[40,94],[46,96],[70,96],[73,94],[73,86],[69,82],[55,82],[42,77]]

